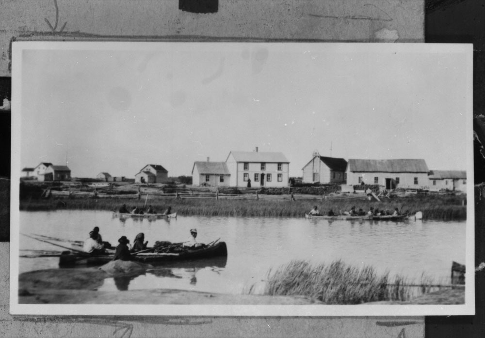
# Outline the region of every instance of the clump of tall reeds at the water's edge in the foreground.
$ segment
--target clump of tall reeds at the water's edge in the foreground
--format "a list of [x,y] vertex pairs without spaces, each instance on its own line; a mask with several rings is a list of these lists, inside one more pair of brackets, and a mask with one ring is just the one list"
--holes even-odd
[[[252,293],[254,288],[249,288]],[[402,276],[377,275],[374,268],[356,268],[342,261],[312,265],[308,261],[290,263],[268,273],[265,295],[298,295],[325,304],[362,304],[379,301],[408,301],[436,291],[433,280],[421,276],[418,284]]]

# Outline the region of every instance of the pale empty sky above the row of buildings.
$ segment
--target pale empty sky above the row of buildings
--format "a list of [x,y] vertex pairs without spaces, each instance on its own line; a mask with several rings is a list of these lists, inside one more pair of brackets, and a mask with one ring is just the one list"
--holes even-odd
[[21,168],[67,160],[72,177],[133,178],[146,164],[162,165],[169,176],[191,175],[194,161],[225,161],[230,151],[258,147],[285,154],[290,176],[302,175],[315,150],[467,169],[471,54],[463,48],[32,46],[13,61],[20,66],[12,95],[20,101],[13,133],[19,129]]

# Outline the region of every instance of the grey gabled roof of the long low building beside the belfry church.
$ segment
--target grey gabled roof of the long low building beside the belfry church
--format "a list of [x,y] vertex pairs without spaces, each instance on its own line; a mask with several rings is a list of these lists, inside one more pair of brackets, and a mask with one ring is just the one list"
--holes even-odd
[[423,159],[360,160],[349,159],[353,172],[429,172]]

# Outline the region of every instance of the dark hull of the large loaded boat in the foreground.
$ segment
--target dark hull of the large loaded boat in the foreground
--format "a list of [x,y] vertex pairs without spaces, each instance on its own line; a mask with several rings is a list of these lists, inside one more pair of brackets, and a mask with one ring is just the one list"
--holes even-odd
[[[113,257],[113,254],[90,255],[73,251],[64,251],[59,258],[59,266],[103,265],[112,261]],[[225,242],[218,242],[204,248],[187,249],[176,253],[139,253],[133,256],[133,261],[157,265],[169,264],[175,261],[191,261],[212,257],[227,257],[227,246]]]

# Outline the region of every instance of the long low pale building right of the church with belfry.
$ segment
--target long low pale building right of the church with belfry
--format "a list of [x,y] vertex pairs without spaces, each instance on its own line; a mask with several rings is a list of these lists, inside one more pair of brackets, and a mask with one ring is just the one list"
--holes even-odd
[[416,188],[429,185],[428,166],[423,159],[349,159],[347,185],[379,184],[386,189]]

